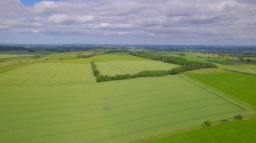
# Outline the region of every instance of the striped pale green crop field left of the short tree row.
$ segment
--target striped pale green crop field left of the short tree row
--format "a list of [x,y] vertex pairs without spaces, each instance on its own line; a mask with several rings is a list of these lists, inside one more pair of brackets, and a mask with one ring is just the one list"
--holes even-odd
[[0,75],[1,85],[87,83],[94,81],[90,64],[30,64]]

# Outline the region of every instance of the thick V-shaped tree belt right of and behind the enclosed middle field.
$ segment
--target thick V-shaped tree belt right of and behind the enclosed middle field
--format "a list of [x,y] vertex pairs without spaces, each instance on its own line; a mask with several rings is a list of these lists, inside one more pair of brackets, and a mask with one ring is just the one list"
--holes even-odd
[[150,58],[152,60],[160,60],[162,62],[180,65],[179,67],[172,68],[172,70],[170,70],[171,75],[183,73],[185,71],[190,71],[190,70],[197,70],[201,68],[217,68],[217,66],[212,63],[190,61],[181,57],[162,56],[162,55],[146,54],[146,53],[139,53],[139,52],[129,52],[129,54],[133,56],[139,56],[142,58]]

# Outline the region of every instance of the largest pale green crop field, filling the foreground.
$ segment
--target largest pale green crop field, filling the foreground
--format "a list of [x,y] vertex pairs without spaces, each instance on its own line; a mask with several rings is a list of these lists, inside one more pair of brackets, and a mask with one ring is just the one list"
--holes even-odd
[[[29,68],[33,66],[44,64]],[[252,112],[181,75],[75,85],[5,85],[0,86],[0,142],[128,142]]]

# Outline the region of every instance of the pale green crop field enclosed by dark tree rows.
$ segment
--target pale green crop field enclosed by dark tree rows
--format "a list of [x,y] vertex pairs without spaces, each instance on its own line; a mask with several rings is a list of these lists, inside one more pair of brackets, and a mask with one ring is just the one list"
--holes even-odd
[[96,62],[96,65],[101,75],[110,76],[139,73],[142,70],[171,70],[177,67],[175,64],[155,60]]

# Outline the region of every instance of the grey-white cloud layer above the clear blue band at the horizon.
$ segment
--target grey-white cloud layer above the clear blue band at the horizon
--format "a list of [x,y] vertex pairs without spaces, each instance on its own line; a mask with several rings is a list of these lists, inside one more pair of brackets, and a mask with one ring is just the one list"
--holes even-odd
[[[45,34],[255,38],[250,0],[0,1],[0,30]],[[1,31],[0,31],[1,32]]]

